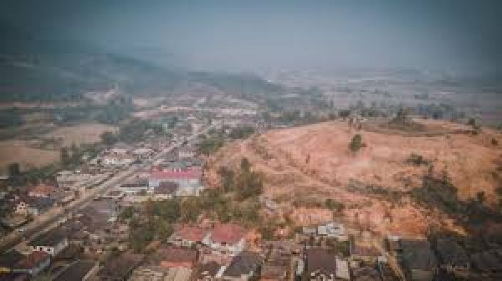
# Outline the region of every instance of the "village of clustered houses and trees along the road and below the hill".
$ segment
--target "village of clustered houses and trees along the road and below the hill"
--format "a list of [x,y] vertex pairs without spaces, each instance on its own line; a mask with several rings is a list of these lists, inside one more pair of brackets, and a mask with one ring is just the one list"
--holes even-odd
[[[222,195],[206,186],[204,154],[222,137],[293,123],[267,123],[249,110],[177,107],[161,115],[168,136],[148,129],[82,156],[55,182],[2,192],[0,280],[425,281],[502,270],[499,251],[468,256],[448,238],[383,236],[336,218],[267,237],[248,219],[207,216],[201,210],[217,209]],[[271,199],[251,200],[277,212]]]

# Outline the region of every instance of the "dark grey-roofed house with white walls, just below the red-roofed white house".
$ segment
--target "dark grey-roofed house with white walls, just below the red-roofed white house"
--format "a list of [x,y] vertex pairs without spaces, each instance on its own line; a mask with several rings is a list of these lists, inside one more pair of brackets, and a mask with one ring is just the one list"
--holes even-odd
[[254,252],[241,252],[236,255],[223,272],[223,280],[250,280],[258,274],[262,257]]

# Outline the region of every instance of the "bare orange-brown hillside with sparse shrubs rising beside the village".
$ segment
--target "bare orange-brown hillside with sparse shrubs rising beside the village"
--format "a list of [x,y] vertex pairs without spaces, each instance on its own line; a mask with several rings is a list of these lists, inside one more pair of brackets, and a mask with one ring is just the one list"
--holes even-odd
[[[430,134],[413,135],[386,130],[378,124],[349,129],[346,122],[333,121],[269,131],[226,145],[209,159],[206,174],[210,185],[219,184],[217,169],[234,167],[246,157],[255,170],[265,175],[265,193],[280,203],[284,213],[300,224],[331,219],[332,212],[315,207],[292,207],[294,200],[332,198],[345,205],[339,219],[379,232],[423,234],[431,223],[454,227],[437,210],[419,207],[404,197],[392,200],[354,192],[353,182],[406,194],[420,187],[429,165],[416,166],[410,155],[431,161],[433,174],[446,172],[458,189],[460,199],[484,192],[487,204],[495,204],[495,189],[502,186],[502,137],[483,129],[478,135],[463,133],[468,128],[443,121],[419,121]],[[366,144],[358,153],[348,149],[355,133]],[[430,135],[430,136],[427,136]],[[498,145],[492,143],[495,139]]]

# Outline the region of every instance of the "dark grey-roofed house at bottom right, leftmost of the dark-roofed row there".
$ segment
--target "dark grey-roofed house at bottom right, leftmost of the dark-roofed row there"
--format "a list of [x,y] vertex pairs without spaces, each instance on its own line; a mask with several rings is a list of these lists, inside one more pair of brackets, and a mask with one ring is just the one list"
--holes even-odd
[[401,240],[400,255],[403,272],[409,280],[432,280],[437,260],[427,240]]

